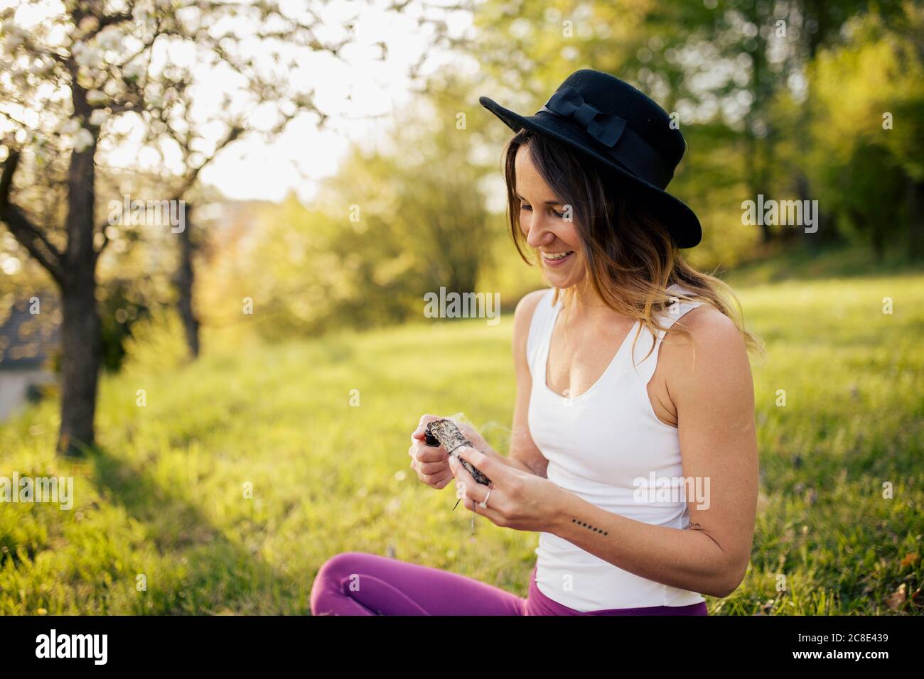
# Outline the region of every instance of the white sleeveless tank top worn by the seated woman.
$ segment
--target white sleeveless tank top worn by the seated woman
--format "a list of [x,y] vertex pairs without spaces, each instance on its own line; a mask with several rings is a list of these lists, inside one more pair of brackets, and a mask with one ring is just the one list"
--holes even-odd
[[[672,285],[669,290],[682,293]],[[549,288],[533,312],[527,340],[532,375],[529,394],[529,433],[549,460],[548,479],[607,512],[657,526],[685,528],[689,523],[686,495],[680,502],[654,502],[646,492],[637,498],[638,483],[683,476],[677,429],[654,414],[646,385],[654,374],[663,332],[654,338],[640,321],[626,335],[613,361],[584,394],[555,394],[546,383],[549,343],[563,299],[552,306]],[[561,296],[560,296],[561,297]],[[695,302],[675,301],[662,313],[670,326]],[[653,493],[652,493],[653,494]],[[647,606],[686,606],[704,600],[697,592],[663,585],[617,568],[552,533],[541,532],[536,548],[536,586],[549,599],[580,612]]]

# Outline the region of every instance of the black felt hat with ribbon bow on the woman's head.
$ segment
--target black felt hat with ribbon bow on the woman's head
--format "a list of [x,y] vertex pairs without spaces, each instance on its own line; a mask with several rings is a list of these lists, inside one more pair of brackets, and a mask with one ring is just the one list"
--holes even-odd
[[624,193],[661,217],[679,248],[702,238],[699,219],[664,188],[687,150],[664,109],[626,81],[582,68],[565,79],[536,115],[523,116],[488,97],[480,104],[515,132],[527,127],[613,169]]

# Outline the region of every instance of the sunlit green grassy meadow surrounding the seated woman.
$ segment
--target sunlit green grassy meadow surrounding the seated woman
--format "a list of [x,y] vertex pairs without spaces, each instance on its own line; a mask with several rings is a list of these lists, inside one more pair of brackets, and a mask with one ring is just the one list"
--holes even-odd
[[[710,612],[921,612],[924,275],[738,293],[768,349],[759,516],[748,575]],[[354,550],[525,596],[538,534],[479,518],[472,536],[454,488],[423,486],[407,457],[425,412],[462,412],[506,451],[511,320],[279,346],[210,334],[196,364],[103,381],[82,464],[52,454],[55,403],[31,408],[0,427],[0,476],[73,476],[76,499],[0,508],[0,614],[304,614],[323,561]]]

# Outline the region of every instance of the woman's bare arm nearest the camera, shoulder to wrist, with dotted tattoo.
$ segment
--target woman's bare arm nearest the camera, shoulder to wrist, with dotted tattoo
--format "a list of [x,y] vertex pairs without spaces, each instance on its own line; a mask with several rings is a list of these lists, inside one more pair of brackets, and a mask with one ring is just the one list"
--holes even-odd
[[[659,362],[676,408],[689,526],[655,526],[562,493],[549,532],[637,576],[715,597],[731,594],[748,567],[757,511],[754,387],[740,333],[722,313],[693,309],[683,321],[696,346],[669,333]],[[708,479],[709,485],[706,486]]]

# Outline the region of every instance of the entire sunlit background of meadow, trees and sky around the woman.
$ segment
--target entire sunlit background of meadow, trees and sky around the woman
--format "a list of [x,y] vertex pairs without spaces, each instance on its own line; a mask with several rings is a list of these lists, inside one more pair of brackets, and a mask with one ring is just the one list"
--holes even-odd
[[[346,550],[525,595],[537,535],[471,537],[407,442],[461,412],[506,451],[512,311],[546,284],[509,235],[512,132],[478,100],[532,115],[584,67],[675,115],[669,190],[704,231],[685,257],[767,347],[751,565],[711,612],[920,612],[919,3],[0,0],[0,20],[0,476],[77,479],[70,511],[0,507],[0,612],[305,613]],[[155,209],[113,219],[133,200]],[[746,224],[748,200],[819,219]],[[501,321],[427,317],[441,287],[498,294]]]

